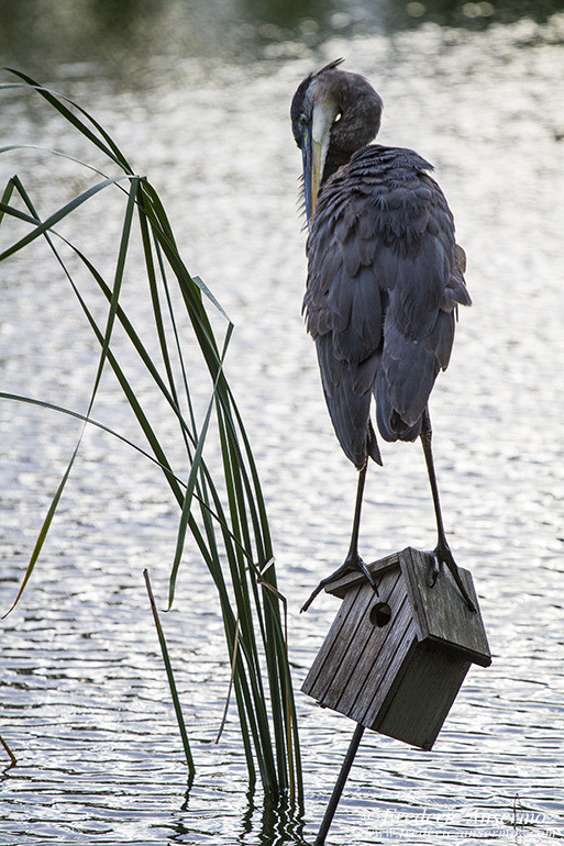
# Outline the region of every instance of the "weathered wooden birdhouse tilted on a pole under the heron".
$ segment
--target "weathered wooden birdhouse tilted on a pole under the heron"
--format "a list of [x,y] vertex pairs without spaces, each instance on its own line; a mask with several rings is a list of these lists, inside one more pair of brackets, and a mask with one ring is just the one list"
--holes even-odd
[[471,664],[491,664],[472,576],[466,605],[443,567],[429,586],[429,553],[408,547],[325,590],[343,603],[302,686],[323,708],[398,741],[431,749]]

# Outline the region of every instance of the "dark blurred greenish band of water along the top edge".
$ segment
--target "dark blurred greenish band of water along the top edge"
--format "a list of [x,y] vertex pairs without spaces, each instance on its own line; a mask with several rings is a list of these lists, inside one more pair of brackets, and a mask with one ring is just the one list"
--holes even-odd
[[103,74],[139,86],[152,56],[239,64],[263,51],[273,58],[287,42],[316,48],[334,35],[392,36],[429,23],[466,31],[544,23],[563,8],[564,0],[3,0],[0,55],[42,78]]

